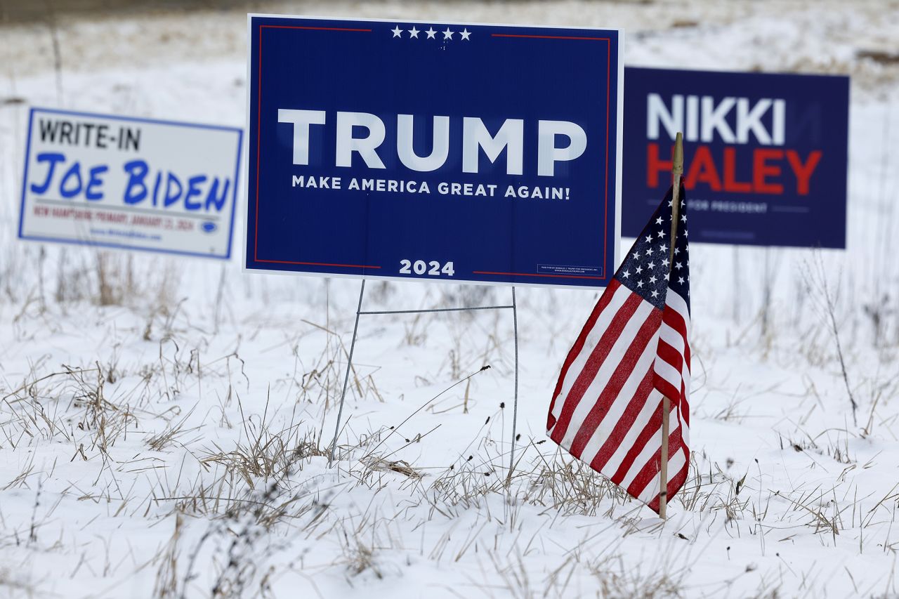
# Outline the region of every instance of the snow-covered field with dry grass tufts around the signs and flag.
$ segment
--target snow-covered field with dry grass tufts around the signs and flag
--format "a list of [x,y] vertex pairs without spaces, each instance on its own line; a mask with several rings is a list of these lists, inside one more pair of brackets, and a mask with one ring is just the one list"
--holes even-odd
[[899,596],[899,4],[253,9],[622,27],[629,65],[850,74],[850,249],[691,248],[666,523],[544,443],[589,291],[518,290],[508,487],[509,311],[363,317],[329,469],[359,282],[14,238],[29,105],[242,126],[244,13],[0,25],[0,596]]

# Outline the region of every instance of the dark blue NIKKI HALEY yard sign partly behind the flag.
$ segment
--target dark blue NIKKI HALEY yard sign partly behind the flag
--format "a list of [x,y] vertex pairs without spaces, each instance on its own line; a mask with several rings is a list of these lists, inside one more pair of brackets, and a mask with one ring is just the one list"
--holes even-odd
[[625,69],[622,232],[671,185],[683,132],[690,241],[846,247],[849,77]]

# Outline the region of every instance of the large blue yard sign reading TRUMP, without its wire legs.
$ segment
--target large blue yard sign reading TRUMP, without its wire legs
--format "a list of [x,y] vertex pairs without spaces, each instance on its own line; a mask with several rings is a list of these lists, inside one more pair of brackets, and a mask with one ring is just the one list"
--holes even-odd
[[603,287],[615,30],[250,15],[245,267]]

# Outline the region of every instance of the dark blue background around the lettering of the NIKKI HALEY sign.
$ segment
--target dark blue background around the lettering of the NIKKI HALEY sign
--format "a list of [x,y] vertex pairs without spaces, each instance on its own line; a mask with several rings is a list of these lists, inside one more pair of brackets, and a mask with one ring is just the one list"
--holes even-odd
[[[762,98],[783,99],[786,109],[782,145],[762,145],[752,132],[746,144],[725,143],[717,134],[710,142],[685,139],[690,241],[753,246],[846,246],[849,77],[628,67],[625,83],[627,135],[622,235],[639,235],[671,185],[670,174],[661,169],[655,169],[655,176],[651,173],[651,146],[656,146],[657,156],[670,161],[673,139],[663,126],[659,127],[658,139],[648,138],[647,96],[660,94],[670,109],[672,94],[692,94],[711,96],[715,105],[727,97],[746,98],[750,108]],[[725,118],[732,130],[736,128],[736,112],[734,106]],[[773,118],[769,109],[761,119],[769,132],[774,126]],[[705,148],[699,150],[700,147]],[[763,158],[764,168],[779,168],[779,172],[753,172],[756,169],[753,153],[759,148],[773,150],[758,159]],[[782,150],[783,156],[777,154],[778,150]],[[704,165],[695,164],[698,151],[705,155],[699,157],[707,158]],[[813,152],[820,152],[808,177],[806,194],[799,192],[798,176],[790,165],[788,152],[793,152],[794,160],[804,166],[810,166],[808,158]],[[708,158],[713,161],[714,174],[707,168]],[[691,167],[696,169],[692,179]],[[720,185],[714,184],[715,175]],[[756,179],[764,185],[755,185]],[[783,191],[771,192],[772,184],[782,185]],[[745,190],[747,185],[752,188],[750,191],[737,191]],[[716,186],[718,190],[714,189]],[[768,192],[758,192],[765,187]],[[748,210],[737,210],[741,206]]]

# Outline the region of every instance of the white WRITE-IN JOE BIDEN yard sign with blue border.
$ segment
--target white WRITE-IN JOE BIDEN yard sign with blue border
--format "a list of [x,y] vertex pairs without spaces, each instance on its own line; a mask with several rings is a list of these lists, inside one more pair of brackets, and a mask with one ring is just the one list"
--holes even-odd
[[227,259],[242,136],[32,108],[19,237]]

